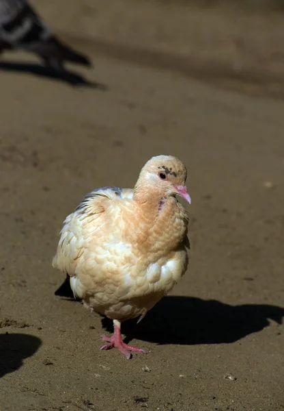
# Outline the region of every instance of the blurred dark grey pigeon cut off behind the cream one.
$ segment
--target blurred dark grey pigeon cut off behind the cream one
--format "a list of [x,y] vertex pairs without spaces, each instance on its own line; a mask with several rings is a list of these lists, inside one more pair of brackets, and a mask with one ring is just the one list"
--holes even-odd
[[64,62],[91,66],[84,55],[57,40],[25,0],[0,0],[0,53],[5,49],[35,53],[57,71],[64,71]]

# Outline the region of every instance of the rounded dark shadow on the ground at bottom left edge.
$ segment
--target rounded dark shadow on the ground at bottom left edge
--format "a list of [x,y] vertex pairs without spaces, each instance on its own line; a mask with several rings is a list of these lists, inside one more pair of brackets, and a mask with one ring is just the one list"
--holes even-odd
[[0,378],[19,369],[40,345],[40,338],[29,334],[0,334]]

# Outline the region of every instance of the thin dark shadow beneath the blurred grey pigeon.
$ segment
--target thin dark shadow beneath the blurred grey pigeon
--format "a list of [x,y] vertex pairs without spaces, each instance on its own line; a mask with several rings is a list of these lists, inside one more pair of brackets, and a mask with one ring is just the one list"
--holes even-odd
[[83,76],[74,73],[72,71],[64,70],[62,72],[56,71],[48,66],[42,64],[20,63],[20,62],[0,62],[0,71],[12,71],[20,73],[28,73],[31,75],[37,75],[38,77],[46,77],[54,79],[59,82],[66,82],[71,86],[87,86],[91,88],[97,88],[98,90],[105,91],[107,86],[100,83],[92,83],[87,81]]

